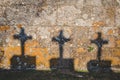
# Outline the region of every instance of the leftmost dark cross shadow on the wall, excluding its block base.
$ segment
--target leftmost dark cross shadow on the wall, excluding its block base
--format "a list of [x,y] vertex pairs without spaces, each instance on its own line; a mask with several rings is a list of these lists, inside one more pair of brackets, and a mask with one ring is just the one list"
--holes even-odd
[[25,46],[25,42],[28,39],[32,39],[32,36],[27,36],[26,33],[24,32],[24,28],[21,28],[20,34],[16,34],[13,36],[14,39],[19,39],[20,43],[21,43],[21,55],[24,56],[24,46]]

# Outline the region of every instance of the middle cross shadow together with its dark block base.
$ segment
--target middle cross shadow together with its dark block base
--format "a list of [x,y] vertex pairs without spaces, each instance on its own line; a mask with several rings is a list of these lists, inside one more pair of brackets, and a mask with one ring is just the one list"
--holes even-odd
[[63,35],[63,30],[60,30],[60,33],[57,37],[53,37],[52,41],[58,42],[59,44],[59,58],[54,58],[50,60],[50,68],[51,69],[70,69],[74,70],[73,59],[63,59],[63,46],[65,42],[70,41],[69,38],[65,38]]

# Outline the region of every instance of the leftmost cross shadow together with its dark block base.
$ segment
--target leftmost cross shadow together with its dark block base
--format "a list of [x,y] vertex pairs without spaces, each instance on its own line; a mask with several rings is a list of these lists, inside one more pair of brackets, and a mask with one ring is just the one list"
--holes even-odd
[[24,28],[20,28],[20,33],[13,35],[14,39],[20,40],[21,55],[14,55],[11,58],[11,69],[13,70],[27,70],[35,69],[36,57],[25,55],[25,42],[32,39],[32,36],[27,36]]

